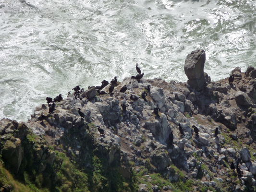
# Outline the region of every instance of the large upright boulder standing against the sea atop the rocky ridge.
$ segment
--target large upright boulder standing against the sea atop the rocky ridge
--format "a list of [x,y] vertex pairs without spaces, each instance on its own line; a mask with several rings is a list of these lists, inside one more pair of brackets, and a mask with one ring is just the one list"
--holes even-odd
[[205,60],[206,54],[202,49],[192,51],[185,60],[184,71],[188,77],[187,83],[198,91],[207,85],[204,73]]

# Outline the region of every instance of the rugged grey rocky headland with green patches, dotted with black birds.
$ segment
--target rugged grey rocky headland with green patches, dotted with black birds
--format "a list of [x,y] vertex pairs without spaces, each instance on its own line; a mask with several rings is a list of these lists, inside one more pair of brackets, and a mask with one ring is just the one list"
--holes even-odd
[[[254,189],[254,69],[244,74],[235,68],[229,84],[228,77],[210,81],[203,50],[193,51],[185,62],[187,83],[126,77],[111,95],[98,95],[90,87],[57,102],[53,113],[42,104],[26,123],[0,120],[1,160],[17,175],[29,169],[38,188],[48,183],[48,189],[93,192]],[[127,91],[120,93],[125,84]],[[146,101],[130,99],[144,91]],[[230,168],[231,162],[239,164],[242,176]]]

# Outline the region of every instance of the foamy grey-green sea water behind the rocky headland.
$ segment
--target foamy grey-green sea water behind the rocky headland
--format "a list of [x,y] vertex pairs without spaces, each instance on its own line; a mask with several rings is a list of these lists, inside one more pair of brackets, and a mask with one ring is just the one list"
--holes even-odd
[[0,119],[27,120],[47,96],[136,74],[187,81],[206,51],[213,81],[256,67],[256,0],[0,0]]

